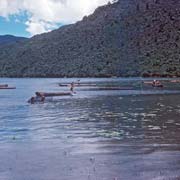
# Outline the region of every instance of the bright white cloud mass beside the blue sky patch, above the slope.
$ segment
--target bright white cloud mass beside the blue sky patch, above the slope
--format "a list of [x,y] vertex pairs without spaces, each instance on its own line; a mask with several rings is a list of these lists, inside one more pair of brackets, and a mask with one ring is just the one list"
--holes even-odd
[[48,32],[58,24],[70,24],[93,13],[109,0],[0,0],[0,16],[26,13],[26,30],[33,36]]

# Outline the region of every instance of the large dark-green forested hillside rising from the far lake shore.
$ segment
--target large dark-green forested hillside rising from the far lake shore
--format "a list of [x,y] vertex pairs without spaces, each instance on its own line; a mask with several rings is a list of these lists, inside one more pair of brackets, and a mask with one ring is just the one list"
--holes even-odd
[[180,1],[119,0],[0,50],[0,76],[180,76]]

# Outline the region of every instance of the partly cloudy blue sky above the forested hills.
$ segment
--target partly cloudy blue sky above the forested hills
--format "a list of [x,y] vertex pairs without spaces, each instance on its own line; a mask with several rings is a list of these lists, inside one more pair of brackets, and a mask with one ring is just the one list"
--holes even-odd
[[0,0],[0,35],[32,37],[75,23],[110,0]]

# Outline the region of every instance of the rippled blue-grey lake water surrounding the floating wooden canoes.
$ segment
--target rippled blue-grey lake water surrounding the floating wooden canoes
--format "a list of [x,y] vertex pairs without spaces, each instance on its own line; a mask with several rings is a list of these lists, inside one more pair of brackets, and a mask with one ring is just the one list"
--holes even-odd
[[[98,87],[43,104],[36,91],[69,91],[74,79],[0,79],[0,179],[180,178],[180,83],[152,88],[142,78],[84,78]],[[149,79],[148,79],[149,80]]]

